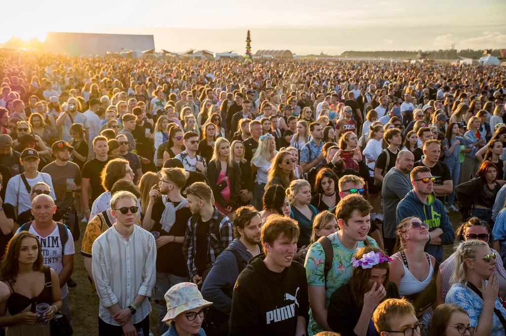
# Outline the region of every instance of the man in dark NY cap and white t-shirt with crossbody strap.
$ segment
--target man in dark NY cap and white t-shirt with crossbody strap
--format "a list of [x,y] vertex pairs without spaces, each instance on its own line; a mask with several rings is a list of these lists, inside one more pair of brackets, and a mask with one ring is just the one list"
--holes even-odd
[[38,163],[40,162],[37,151],[31,148],[25,149],[21,153],[20,160],[21,165],[25,168],[25,172],[13,176],[9,180],[5,193],[5,203],[12,204],[18,215],[31,208],[31,187],[37,182],[47,183],[51,191],[49,196],[51,196],[53,201],[56,200],[51,175],[37,171]]

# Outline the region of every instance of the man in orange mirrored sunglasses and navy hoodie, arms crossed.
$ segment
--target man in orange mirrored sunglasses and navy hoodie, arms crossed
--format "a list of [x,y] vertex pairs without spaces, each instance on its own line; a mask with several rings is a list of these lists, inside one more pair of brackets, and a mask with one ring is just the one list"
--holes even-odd
[[416,216],[423,223],[427,223],[430,239],[425,246],[425,251],[441,262],[443,246],[453,244],[455,232],[443,203],[436,198],[433,191],[435,177],[432,176],[431,169],[418,166],[411,170],[410,176],[413,190],[397,205],[397,224],[402,219],[411,216]]

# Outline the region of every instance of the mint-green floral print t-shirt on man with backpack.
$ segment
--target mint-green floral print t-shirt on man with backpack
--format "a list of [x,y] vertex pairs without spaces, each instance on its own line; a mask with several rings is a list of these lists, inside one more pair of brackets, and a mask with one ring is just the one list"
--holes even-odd
[[[334,293],[339,287],[348,283],[351,277],[351,271],[353,269],[353,265],[351,262],[351,258],[357,252],[358,249],[364,247],[363,242],[358,242],[357,248],[355,250],[349,250],[341,244],[338,239],[338,234],[332,233],[328,236],[330,239],[330,243],[332,244],[332,250],[334,252],[334,258],[332,261],[332,267],[327,273],[327,288],[325,291],[325,307],[328,308],[328,303],[330,301],[330,296]],[[367,237],[371,246],[378,247],[374,239],[371,237]],[[306,278],[308,281],[308,285],[313,286],[324,286],[325,285],[325,273],[323,272],[323,268],[325,267],[325,252],[323,251],[323,247],[320,243],[316,242],[311,245],[308,249],[308,253],[306,255],[306,262],[304,263],[304,267],[306,267]],[[311,313],[311,309],[309,310],[309,326],[308,326],[308,334],[309,336],[313,336],[314,334],[324,331],[323,328],[316,322]]]

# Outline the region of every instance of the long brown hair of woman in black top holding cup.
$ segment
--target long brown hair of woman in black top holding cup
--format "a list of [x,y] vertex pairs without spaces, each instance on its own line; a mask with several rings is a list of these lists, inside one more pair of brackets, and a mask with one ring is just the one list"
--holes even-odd
[[24,238],[33,238],[37,241],[38,254],[37,259],[33,262],[33,270],[44,273],[49,269],[48,266],[44,266],[44,258],[38,238],[28,231],[20,231],[11,238],[6,247],[6,253],[2,258],[2,263],[0,263],[0,281],[10,281],[11,284],[16,282],[19,272],[19,251],[21,250],[21,242]]

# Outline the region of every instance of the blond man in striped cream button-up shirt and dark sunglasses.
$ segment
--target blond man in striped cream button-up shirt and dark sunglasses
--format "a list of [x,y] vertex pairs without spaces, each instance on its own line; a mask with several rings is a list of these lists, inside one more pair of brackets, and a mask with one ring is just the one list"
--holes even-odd
[[[92,273],[100,298],[99,335],[149,334],[151,295],[156,280],[153,235],[135,225],[137,198],[119,191],[111,199],[116,223],[93,243]],[[141,330],[139,330],[140,332]]]

